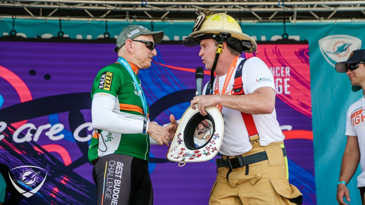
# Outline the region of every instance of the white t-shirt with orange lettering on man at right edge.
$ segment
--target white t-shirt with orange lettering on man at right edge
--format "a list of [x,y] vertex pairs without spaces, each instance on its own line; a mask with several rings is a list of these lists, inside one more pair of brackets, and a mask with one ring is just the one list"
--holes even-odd
[[347,110],[346,132],[347,136],[357,136],[360,148],[361,174],[357,177],[357,187],[365,186],[365,98],[361,97]]

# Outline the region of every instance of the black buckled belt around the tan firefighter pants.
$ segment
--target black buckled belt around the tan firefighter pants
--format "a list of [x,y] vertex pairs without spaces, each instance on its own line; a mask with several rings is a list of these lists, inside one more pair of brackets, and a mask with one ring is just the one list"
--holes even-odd
[[[285,147],[281,148],[283,150],[284,157],[287,156],[287,151]],[[230,169],[236,169],[239,167],[251,165],[253,163],[261,162],[268,159],[268,155],[266,155],[266,151],[258,152],[255,154],[250,154],[247,156],[238,156],[231,159],[215,159],[217,168],[219,167],[229,167]]]

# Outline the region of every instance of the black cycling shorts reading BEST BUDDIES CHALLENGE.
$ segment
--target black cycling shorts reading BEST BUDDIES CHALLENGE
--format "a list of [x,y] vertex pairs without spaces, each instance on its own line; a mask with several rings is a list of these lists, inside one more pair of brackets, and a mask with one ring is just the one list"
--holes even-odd
[[96,160],[92,171],[97,205],[152,205],[153,190],[148,162],[124,154]]

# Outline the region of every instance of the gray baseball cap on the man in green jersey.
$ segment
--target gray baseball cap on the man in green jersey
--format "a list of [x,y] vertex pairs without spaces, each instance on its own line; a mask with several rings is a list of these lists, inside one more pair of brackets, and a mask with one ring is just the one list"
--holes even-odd
[[118,50],[126,43],[127,39],[134,39],[137,36],[149,34],[152,35],[155,44],[160,43],[164,38],[164,31],[150,31],[147,28],[137,24],[124,27],[116,39],[116,47],[114,51],[118,53]]

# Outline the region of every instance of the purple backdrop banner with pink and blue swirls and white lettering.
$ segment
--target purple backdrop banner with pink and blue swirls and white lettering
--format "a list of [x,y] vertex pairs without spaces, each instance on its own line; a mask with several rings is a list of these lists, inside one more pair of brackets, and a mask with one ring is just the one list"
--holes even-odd
[[[15,182],[25,192],[44,182],[22,204],[96,203],[93,166],[87,158],[90,92],[97,72],[116,61],[114,46],[0,41],[0,163],[16,168],[11,173],[18,180],[31,173],[31,185]],[[269,66],[276,83],[289,181],[303,193],[303,204],[316,204],[308,45],[259,43],[258,48],[256,56]],[[170,114],[180,119],[189,107],[195,68],[204,67],[198,52],[199,47],[157,45],[152,66],[140,74],[151,121],[167,124]],[[166,146],[151,146],[154,204],[208,204],[215,161],[178,167],[166,159],[167,151]]]

